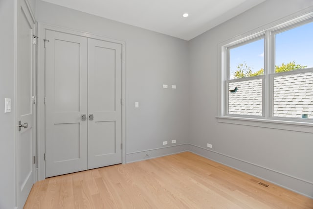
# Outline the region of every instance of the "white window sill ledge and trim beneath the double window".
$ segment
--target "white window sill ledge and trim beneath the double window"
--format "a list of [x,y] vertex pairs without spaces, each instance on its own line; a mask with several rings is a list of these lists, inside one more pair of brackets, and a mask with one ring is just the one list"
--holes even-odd
[[221,123],[230,123],[237,125],[256,126],[263,128],[273,128],[289,131],[298,131],[313,133],[312,122],[284,121],[275,119],[259,119],[233,116],[216,116],[217,121]]

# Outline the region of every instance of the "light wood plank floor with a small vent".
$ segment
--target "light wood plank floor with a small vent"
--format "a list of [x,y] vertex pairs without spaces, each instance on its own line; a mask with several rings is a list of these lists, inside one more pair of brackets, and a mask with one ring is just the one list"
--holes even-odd
[[184,152],[48,178],[33,186],[24,207],[118,208],[313,209],[313,200]]

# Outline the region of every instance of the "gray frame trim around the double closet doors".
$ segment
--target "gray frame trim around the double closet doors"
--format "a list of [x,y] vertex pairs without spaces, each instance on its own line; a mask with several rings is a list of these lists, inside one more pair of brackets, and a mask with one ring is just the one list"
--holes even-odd
[[58,31],[92,39],[117,43],[122,45],[122,163],[126,163],[126,68],[125,68],[125,41],[116,40],[89,32],[59,27],[56,25],[38,23],[38,55],[37,55],[37,155],[38,155],[38,181],[45,179],[45,30]]

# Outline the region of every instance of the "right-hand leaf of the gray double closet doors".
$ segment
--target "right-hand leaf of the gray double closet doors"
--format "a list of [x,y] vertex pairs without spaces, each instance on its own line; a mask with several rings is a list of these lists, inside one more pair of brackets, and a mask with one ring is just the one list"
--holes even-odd
[[88,169],[122,163],[121,53],[120,44],[88,39]]

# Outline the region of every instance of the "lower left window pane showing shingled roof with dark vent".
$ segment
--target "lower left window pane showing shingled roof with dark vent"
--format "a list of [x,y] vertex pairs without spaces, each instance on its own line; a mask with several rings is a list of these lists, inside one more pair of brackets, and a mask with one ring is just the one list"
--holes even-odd
[[262,116],[262,78],[229,83],[228,90],[228,114]]

